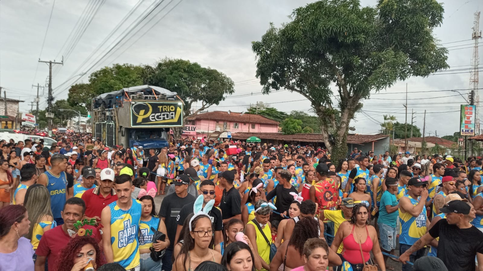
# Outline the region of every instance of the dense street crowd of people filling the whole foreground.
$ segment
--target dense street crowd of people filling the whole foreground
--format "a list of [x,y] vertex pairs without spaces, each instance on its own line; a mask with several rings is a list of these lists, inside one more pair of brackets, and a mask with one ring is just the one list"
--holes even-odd
[[480,157],[56,139],[0,141],[0,271],[483,268]]

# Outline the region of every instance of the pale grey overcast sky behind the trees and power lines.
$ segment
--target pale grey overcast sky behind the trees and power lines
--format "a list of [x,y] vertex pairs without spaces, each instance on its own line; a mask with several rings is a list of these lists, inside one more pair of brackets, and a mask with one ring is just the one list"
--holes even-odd
[[[297,93],[283,91],[259,95],[261,86],[255,78],[255,54],[251,50],[251,42],[260,40],[270,22],[280,27],[282,23],[288,22],[287,15],[291,14],[293,9],[311,1],[164,0],[153,14],[147,17],[146,21],[154,17],[150,23],[126,42],[131,37],[128,35],[110,54],[101,58],[100,56],[120,40],[117,37],[124,35],[121,34],[122,31],[132,27],[133,21],[155,2],[159,0],[57,0],[42,49],[53,0],[0,1],[0,85],[7,91],[7,97],[25,101],[21,103],[20,111],[30,110],[29,102],[32,102],[36,95],[36,88],[32,88],[31,85],[38,82],[45,85],[48,76],[47,65],[37,62],[39,56],[42,60],[60,61],[61,55],[64,55],[64,66],[54,66],[53,87],[56,99],[67,98],[68,87],[75,79],[79,79],[77,82],[87,82],[90,72],[104,66],[113,63],[152,65],[160,58],[170,57],[188,59],[204,67],[224,72],[236,82],[234,95],[254,94],[227,97],[219,106],[209,108],[210,111],[230,109],[242,112],[246,110],[246,105],[263,101],[284,112],[302,110],[311,113],[310,103]],[[99,5],[100,8],[89,26],[85,27],[84,34],[77,39],[74,39],[73,35],[69,38],[79,18],[79,25],[85,25],[83,22],[88,21],[88,16],[82,17],[83,11],[86,9],[93,14],[100,3],[102,5]],[[179,5],[175,7],[177,3]],[[361,1],[362,5],[375,3],[375,0]],[[125,24],[97,49],[114,27],[138,4],[138,9]],[[355,133],[377,133],[380,129],[377,122],[383,122],[383,113],[380,112],[395,115],[399,122],[404,123],[406,83],[408,92],[464,89],[460,93],[467,96],[467,68],[473,50],[473,41],[469,39],[474,13],[478,10],[477,4],[478,0],[444,1],[443,24],[436,28],[434,33],[440,42],[445,43],[444,46],[451,50],[448,64],[452,71],[427,78],[400,81],[390,89],[371,95],[369,100],[364,101],[364,112],[358,113],[356,119],[351,122],[356,128]],[[171,9],[172,11],[167,14]],[[160,13],[157,14],[158,12]],[[165,14],[167,15],[162,18]],[[160,21],[156,23],[158,20]],[[148,31],[150,27],[152,29]],[[480,29],[482,28],[480,22]],[[140,27],[135,28],[131,34],[138,29]],[[146,34],[142,36],[144,33]],[[71,43],[74,40],[78,42]],[[480,44],[483,44],[483,40],[480,41]],[[480,57],[483,55],[482,51],[483,49],[480,49]],[[101,61],[94,65],[99,59]],[[90,67],[93,68],[88,70]],[[78,76],[83,72],[87,72],[85,76]],[[67,83],[60,85],[65,81]],[[480,84],[480,88],[482,87],[483,82]],[[46,105],[47,88],[45,91],[41,89],[40,94],[42,109]],[[449,95],[456,96],[441,97]],[[429,133],[434,136],[436,132],[438,136],[453,135],[459,130],[459,104],[466,103],[462,96],[455,92],[439,91],[409,94],[408,99],[412,99],[408,100],[408,111],[416,112],[415,124],[421,130],[423,113],[427,109],[426,136]],[[483,104],[483,95],[481,99]],[[483,122],[483,112],[480,112],[479,116]],[[408,114],[408,122],[410,119],[411,116]]]

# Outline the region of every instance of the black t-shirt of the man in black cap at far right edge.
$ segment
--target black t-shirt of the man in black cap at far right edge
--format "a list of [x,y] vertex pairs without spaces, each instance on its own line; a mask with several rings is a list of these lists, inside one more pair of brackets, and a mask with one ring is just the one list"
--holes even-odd
[[471,226],[460,229],[448,224],[446,218],[436,222],[429,230],[433,237],[440,237],[438,258],[448,270],[474,271],[476,253],[483,253],[483,232]]

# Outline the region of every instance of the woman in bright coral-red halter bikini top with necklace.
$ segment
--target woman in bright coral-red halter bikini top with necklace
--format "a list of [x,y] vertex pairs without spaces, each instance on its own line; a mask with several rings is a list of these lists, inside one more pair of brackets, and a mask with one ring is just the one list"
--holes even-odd
[[365,204],[355,205],[350,220],[342,222],[339,230],[337,230],[331,248],[337,251],[342,243],[342,260],[348,261],[354,271],[362,270],[364,263],[371,261],[369,252],[372,251],[379,269],[385,271],[384,258],[377,239],[376,229],[369,225],[369,216],[369,209]]

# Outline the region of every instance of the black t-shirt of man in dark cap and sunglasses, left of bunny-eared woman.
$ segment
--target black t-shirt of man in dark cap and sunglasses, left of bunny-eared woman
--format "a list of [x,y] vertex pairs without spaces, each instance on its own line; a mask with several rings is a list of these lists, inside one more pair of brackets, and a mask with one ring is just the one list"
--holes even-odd
[[159,217],[165,217],[164,224],[166,224],[166,231],[168,232],[168,238],[170,239],[170,246],[168,248],[173,249],[174,237],[176,235],[176,219],[180,215],[180,211],[186,204],[193,207],[195,197],[191,194],[187,194],[186,197],[180,198],[176,193],[166,196],[161,202],[159,208]]

